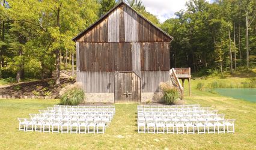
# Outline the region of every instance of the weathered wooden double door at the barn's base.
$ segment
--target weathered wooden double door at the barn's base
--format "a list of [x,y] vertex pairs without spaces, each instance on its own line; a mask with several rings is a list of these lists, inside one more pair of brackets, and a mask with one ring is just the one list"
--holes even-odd
[[141,103],[141,79],[135,73],[116,74],[115,103]]

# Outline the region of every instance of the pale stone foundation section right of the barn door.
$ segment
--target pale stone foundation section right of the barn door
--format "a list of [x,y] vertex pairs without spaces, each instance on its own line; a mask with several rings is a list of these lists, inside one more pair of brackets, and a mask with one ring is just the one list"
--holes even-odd
[[146,103],[148,101],[162,101],[163,93],[162,92],[147,92],[141,93],[141,103]]

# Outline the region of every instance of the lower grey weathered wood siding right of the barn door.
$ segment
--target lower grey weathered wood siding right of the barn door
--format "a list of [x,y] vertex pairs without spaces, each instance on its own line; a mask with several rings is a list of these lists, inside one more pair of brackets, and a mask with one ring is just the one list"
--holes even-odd
[[169,81],[169,71],[141,71],[142,92],[159,92],[160,82]]

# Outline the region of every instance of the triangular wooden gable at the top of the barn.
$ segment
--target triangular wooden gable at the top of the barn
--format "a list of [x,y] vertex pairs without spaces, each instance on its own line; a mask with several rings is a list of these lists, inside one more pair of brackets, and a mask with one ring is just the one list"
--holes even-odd
[[139,16],[136,11],[120,5],[91,26],[79,42],[164,42],[171,41],[148,20]]

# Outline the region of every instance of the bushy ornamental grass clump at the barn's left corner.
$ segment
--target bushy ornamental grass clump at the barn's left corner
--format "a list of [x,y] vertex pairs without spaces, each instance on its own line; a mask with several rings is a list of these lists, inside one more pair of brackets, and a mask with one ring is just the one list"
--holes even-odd
[[61,95],[60,104],[62,105],[78,105],[82,103],[85,98],[81,83],[66,86],[59,92],[59,95]]

